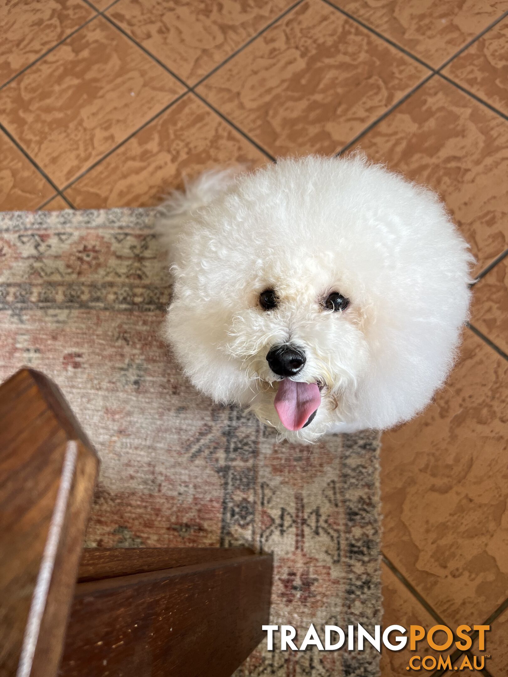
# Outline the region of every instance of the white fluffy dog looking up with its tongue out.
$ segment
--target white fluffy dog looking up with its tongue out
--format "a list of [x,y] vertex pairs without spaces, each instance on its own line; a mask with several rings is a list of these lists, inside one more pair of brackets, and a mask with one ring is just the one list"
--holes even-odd
[[186,375],[291,441],[408,420],[452,367],[468,246],[433,192],[363,156],[206,173],[158,228]]

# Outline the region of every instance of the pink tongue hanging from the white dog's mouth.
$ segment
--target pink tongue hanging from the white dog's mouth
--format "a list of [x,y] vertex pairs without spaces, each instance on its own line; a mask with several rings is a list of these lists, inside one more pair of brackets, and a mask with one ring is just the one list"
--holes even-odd
[[321,403],[316,383],[297,383],[284,378],[274,399],[280,422],[288,430],[300,430]]

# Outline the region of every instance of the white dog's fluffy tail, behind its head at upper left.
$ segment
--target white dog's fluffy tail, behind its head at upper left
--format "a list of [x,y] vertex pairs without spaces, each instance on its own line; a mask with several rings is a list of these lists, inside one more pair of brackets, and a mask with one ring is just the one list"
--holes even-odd
[[193,181],[186,182],[184,190],[175,190],[169,195],[159,207],[156,219],[158,236],[168,251],[171,251],[192,212],[206,206],[219,194],[228,190],[234,183],[234,177],[242,169],[244,168],[231,167],[206,171]]

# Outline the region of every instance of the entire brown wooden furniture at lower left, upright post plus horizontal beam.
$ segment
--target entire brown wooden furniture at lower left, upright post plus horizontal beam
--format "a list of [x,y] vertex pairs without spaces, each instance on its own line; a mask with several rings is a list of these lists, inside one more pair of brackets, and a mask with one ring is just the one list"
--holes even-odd
[[1,677],[230,677],[263,638],[272,556],[81,556],[97,471],[51,381],[24,369],[0,387]]

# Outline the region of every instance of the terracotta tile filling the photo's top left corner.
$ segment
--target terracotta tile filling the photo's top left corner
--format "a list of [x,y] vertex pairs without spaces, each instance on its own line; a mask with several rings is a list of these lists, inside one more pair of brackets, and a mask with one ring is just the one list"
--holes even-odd
[[0,11],[0,85],[95,12],[83,0],[7,0]]

